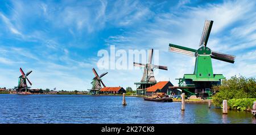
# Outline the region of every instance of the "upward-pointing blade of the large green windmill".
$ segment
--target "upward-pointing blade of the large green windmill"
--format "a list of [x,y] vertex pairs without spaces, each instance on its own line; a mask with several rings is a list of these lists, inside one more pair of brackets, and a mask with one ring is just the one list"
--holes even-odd
[[210,36],[210,30],[212,29],[212,24],[213,24],[212,20],[205,20],[204,29],[203,29],[199,46],[203,46],[203,45],[207,46],[208,38]]

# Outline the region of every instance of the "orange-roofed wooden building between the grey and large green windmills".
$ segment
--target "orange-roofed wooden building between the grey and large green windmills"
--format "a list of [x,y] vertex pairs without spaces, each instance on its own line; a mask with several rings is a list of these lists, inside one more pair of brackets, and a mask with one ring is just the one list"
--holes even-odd
[[172,89],[169,89],[169,86],[174,86],[170,81],[159,81],[153,86],[150,86],[146,90],[146,95],[152,95],[154,93],[166,93],[170,94]]

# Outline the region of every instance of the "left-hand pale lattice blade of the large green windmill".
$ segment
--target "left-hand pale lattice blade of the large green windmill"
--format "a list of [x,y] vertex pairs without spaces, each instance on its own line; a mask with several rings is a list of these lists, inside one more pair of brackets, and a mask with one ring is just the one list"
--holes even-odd
[[189,56],[195,56],[195,53],[197,50],[169,43],[169,51],[172,51],[174,53],[185,54]]

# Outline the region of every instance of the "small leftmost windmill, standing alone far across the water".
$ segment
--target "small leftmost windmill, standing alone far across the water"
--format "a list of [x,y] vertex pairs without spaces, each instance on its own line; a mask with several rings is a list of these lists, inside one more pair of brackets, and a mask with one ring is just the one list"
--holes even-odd
[[22,68],[19,68],[19,71],[20,71],[20,73],[21,73],[22,75],[19,76],[18,86],[15,87],[15,89],[16,89],[16,91],[18,91],[18,92],[24,92],[24,91],[27,92],[28,90],[30,90],[30,89],[29,89],[30,87],[27,86],[27,81],[29,82],[30,85],[32,85],[31,81],[28,80],[28,77],[27,77],[27,76],[30,75],[30,73],[31,73],[32,71],[28,71],[26,74],[23,72]]

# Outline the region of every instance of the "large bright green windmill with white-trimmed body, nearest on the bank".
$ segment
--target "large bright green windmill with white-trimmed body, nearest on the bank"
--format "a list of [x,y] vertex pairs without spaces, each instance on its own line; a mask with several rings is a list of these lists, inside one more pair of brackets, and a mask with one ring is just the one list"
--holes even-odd
[[220,85],[221,79],[225,77],[222,74],[213,74],[212,58],[224,62],[234,63],[236,56],[212,51],[207,47],[207,42],[212,29],[212,20],[205,20],[203,34],[199,44],[199,49],[190,49],[188,47],[169,44],[169,51],[186,54],[196,57],[195,71],[193,74],[184,74],[179,80],[179,86],[187,95],[196,95],[206,98],[212,94],[212,86]]

